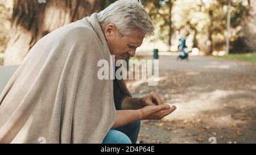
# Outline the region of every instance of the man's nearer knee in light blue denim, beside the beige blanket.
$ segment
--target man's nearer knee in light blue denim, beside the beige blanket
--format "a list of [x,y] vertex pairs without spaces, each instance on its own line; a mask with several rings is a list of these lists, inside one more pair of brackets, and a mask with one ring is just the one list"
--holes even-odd
[[103,144],[131,144],[131,140],[125,133],[111,129],[102,142]]

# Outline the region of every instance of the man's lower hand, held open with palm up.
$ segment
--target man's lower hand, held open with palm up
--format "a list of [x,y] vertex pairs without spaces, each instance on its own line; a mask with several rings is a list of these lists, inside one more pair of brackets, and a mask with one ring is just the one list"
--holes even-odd
[[159,106],[146,106],[139,111],[140,119],[162,119],[176,110],[175,106],[170,107],[168,104],[160,104]]

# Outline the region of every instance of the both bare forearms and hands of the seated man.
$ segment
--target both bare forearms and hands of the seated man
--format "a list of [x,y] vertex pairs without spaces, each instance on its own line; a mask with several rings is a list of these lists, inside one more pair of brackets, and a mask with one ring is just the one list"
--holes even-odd
[[117,121],[112,128],[122,127],[137,120],[162,119],[176,110],[175,106],[163,104],[163,100],[154,92],[143,98],[126,97],[121,108],[122,110],[117,111]]

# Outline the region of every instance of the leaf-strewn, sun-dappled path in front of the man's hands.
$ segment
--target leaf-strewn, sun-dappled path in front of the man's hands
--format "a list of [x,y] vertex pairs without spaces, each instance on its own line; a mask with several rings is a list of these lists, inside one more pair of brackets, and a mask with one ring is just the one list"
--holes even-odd
[[162,120],[143,120],[138,143],[256,143],[256,64],[160,56],[159,76],[157,86],[128,83],[134,97],[155,91],[177,107]]

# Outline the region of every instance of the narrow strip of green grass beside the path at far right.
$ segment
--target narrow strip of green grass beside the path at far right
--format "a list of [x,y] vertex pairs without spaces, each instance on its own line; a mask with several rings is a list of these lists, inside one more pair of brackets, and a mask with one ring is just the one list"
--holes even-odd
[[230,54],[225,56],[215,56],[218,58],[225,58],[228,60],[239,60],[239,61],[248,61],[256,63],[256,53],[245,53],[245,54]]

